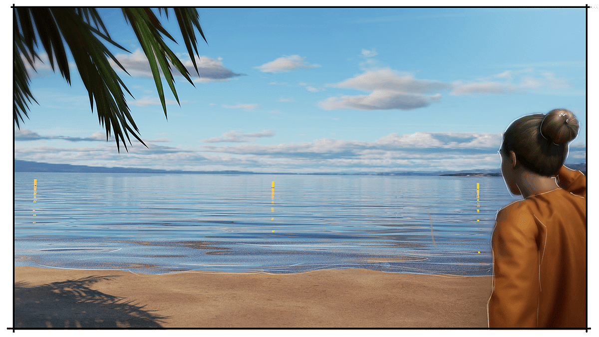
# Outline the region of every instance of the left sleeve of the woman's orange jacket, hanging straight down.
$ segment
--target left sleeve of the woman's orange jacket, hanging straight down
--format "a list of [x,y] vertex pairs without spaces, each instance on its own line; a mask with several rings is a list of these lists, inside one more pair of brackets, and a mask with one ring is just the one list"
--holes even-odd
[[489,327],[537,327],[537,225],[524,207],[510,206],[497,212],[492,236],[494,275],[487,305]]

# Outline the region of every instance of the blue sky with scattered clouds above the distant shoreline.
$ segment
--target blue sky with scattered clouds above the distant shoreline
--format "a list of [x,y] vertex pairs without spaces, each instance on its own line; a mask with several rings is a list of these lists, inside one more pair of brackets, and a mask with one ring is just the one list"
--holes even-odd
[[[276,173],[498,170],[515,119],[571,110],[585,163],[585,10],[580,8],[198,8],[199,74],[165,85],[118,8],[99,9],[131,53],[128,105],[141,139],[120,153],[77,73],[31,71],[38,104],[14,127],[14,158],[161,170]],[[172,14],[172,12],[171,12]],[[181,41],[176,19],[161,17]],[[41,51],[44,60],[43,50]],[[197,56],[195,56],[197,58]],[[72,71],[76,67],[72,66]]]

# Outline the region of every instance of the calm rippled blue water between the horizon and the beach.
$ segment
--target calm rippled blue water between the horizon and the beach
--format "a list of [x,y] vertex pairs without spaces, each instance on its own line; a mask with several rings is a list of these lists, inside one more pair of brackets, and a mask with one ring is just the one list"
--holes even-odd
[[502,177],[14,173],[14,264],[492,275]]

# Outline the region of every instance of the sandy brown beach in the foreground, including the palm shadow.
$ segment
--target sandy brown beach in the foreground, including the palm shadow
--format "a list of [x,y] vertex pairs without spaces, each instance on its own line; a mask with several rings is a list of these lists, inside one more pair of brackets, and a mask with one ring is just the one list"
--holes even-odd
[[15,269],[16,327],[481,327],[491,276]]

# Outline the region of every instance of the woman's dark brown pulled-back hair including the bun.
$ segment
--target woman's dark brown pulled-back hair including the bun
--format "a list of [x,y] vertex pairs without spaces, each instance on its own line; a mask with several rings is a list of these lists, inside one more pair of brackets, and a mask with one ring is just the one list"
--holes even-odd
[[568,155],[568,142],[578,134],[576,116],[565,109],[516,119],[503,134],[501,154],[513,151],[522,166],[541,176],[555,176]]

